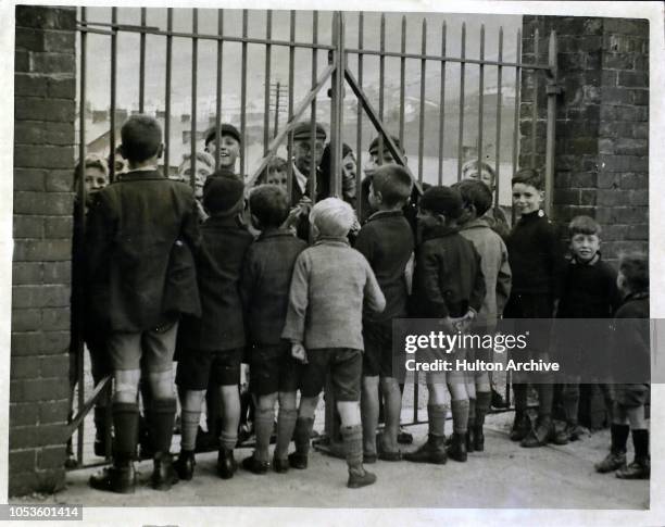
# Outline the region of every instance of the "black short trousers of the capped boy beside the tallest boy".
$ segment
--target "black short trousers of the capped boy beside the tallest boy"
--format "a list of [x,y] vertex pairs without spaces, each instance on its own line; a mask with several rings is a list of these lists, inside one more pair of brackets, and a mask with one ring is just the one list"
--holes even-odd
[[243,348],[233,350],[187,350],[178,361],[176,385],[186,390],[206,390],[209,381],[217,386],[240,385]]

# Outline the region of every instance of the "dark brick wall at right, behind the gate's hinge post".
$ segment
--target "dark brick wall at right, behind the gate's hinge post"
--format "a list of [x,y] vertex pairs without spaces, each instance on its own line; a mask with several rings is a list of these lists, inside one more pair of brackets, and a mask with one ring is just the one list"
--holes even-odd
[[[625,18],[525,16],[523,61],[547,62],[556,32],[559,97],[553,217],[565,224],[587,214],[603,227],[602,251],[649,246],[649,24]],[[532,75],[524,75],[519,165],[529,166]],[[538,95],[536,163],[544,168],[547,96]]]

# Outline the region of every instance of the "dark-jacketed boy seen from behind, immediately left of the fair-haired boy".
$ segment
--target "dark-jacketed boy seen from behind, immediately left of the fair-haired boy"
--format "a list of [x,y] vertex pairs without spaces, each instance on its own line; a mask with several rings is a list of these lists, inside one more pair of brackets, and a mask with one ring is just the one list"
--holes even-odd
[[254,474],[269,467],[268,446],[279,393],[277,444],[273,468],[288,470],[289,443],[296,426],[296,392],[299,363],[291,357],[291,348],[281,340],[281,330],[289,303],[293,264],[308,244],[289,229],[280,228],[289,214],[286,190],[277,185],[261,185],[250,195],[252,224],[261,236],[247,251],[240,281],[248,335],[250,391],[256,398],[254,430],[256,448],[242,466]]

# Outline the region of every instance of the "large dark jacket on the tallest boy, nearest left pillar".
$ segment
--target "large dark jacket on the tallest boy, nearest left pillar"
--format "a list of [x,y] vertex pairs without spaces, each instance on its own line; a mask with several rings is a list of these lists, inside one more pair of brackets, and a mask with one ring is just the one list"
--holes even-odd
[[199,315],[199,236],[191,188],[156,171],[130,172],[97,192],[86,230],[95,316],[111,331],[139,332]]

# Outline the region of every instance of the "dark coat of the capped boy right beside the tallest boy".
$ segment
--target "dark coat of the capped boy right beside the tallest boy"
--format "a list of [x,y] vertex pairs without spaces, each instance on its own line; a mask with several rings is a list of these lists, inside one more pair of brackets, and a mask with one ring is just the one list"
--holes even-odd
[[202,251],[198,277],[200,318],[180,323],[178,352],[221,351],[244,347],[240,273],[252,235],[236,216],[211,216],[201,225]]

